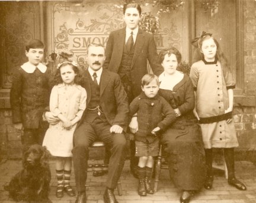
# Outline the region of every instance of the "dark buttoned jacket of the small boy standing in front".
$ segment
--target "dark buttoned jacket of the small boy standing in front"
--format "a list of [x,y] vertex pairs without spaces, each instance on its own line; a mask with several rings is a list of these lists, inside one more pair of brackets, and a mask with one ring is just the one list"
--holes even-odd
[[137,96],[130,103],[130,116],[135,113],[139,125],[135,139],[140,142],[153,142],[157,136],[152,135],[152,130],[160,127],[162,132],[176,119],[171,105],[158,94],[153,98],[148,98],[145,93]]

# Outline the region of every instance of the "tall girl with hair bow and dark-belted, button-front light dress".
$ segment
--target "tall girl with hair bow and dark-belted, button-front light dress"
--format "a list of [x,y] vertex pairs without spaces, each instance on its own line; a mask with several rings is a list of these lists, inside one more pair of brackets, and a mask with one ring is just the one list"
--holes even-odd
[[201,126],[206,153],[204,188],[211,189],[213,184],[212,148],[222,148],[228,168],[228,184],[244,191],[246,186],[235,178],[234,148],[238,146],[232,120],[235,82],[212,34],[203,32],[193,45],[201,55],[201,60],[191,67],[190,78],[196,95],[194,114]]

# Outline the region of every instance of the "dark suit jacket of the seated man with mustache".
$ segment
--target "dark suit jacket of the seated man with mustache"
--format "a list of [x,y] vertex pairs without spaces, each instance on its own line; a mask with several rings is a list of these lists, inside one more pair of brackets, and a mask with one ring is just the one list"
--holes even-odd
[[[87,91],[87,104],[91,100],[91,76],[85,71],[84,88]],[[126,131],[129,122],[129,104],[118,74],[103,70],[100,78],[100,106],[111,126],[119,125]],[[87,109],[81,118],[87,116]],[[80,123],[81,123],[80,122]],[[78,124],[79,126],[79,124]]]

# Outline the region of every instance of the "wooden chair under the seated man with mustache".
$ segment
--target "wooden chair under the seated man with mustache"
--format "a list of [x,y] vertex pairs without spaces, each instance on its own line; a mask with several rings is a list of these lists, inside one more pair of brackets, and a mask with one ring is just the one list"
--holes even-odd
[[[90,148],[104,148],[104,142],[94,142],[90,146]],[[105,156],[104,163],[103,164],[89,164],[88,165],[88,172],[93,171],[94,176],[100,176],[104,175],[108,172],[108,162],[109,162],[109,156]],[[123,191],[121,188],[121,182],[120,179],[117,182],[117,192],[119,196],[123,195]]]

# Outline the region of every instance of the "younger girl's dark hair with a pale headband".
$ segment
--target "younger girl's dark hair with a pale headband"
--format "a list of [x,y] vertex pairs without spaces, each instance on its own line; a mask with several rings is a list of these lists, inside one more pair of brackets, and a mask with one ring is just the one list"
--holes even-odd
[[64,66],[71,66],[73,71],[75,72],[75,84],[83,84],[83,78],[81,71],[77,66],[75,66],[72,61],[63,61],[60,66],[55,71],[55,74],[53,74],[53,78],[51,79],[52,86],[55,86],[57,84],[63,83],[62,77],[60,76],[60,68]]

